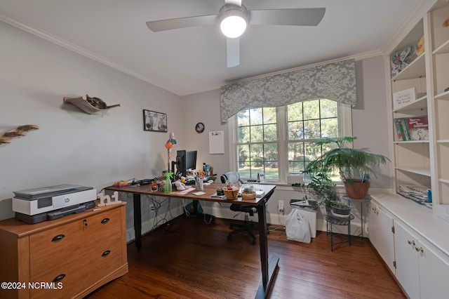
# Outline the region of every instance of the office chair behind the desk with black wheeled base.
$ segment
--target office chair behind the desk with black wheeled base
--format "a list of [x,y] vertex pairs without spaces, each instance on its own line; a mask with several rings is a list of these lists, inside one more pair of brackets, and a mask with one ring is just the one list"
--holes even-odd
[[[222,175],[220,177],[220,180],[222,181],[222,183],[227,182],[227,180],[232,182],[232,184],[235,184],[236,182],[243,183],[243,180],[241,180],[240,173],[238,171],[229,171],[229,172],[225,173],[224,175]],[[228,240],[232,239],[232,236],[234,234],[239,234],[241,232],[247,232],[250,235],[250,237],[253,238],[253,242],[252,242],[253,245],[257,244],[257,238],[253,234],[253,230],[258,230],[258,227],[256,225],[254,225],[254,222],[251,221],[248,217],[248,214],[253,216],[255,213],[257,213],[257,208],[255,208],[254,206],[242,206],[241,204],[231,204],[231,206],[229,208],[231,209],[231,211],[234,211],[234,212],[245,213],[245,222],[243,222],[243,225],[237,224],[237,223],[231,223],[229,225],[230,229],[233,229],[234,227],[239,227],[239,228],[237,230],[233,230],[232,232],[229,232],[229,234],[227,235],[227,239]]]

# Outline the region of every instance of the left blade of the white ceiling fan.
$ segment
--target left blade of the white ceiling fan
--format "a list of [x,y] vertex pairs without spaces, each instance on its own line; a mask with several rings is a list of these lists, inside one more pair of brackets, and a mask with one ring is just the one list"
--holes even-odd
[[152,32],[159,32],[164,30],[179,29],[186,27],[215,25],[216,23],[217,23],[217,15],[198,15],[196,17],[149,21],[147,22],[147,27]]

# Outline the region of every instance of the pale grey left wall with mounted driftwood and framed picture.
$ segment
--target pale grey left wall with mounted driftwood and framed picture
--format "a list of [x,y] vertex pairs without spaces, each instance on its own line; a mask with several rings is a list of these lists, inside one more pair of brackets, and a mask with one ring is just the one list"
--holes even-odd
[[[0,44],[0,132],[40,127],[0,145],[0,219],[13,217],[14,191],[72,183],[100,192],[166,168],[168,133],[143,131],[142,109],[167,113],[169,131],[182,128],[179,96],[4,22]],[[86,93],[123,107],[90,115],[62,103]],[[182,134],[177,138],[182,144]]]

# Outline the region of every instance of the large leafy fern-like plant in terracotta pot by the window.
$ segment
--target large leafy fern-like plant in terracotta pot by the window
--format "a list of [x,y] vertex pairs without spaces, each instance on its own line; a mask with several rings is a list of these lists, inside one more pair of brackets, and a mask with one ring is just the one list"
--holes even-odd
[[389,159],[382,154],[373,154],[366,150],[357,150],[344,147],[356,137],[324,138],[316,141],[318,145],[327,145],[331,148],[319,159],[311,161],[304,173],[312,175],[323,173],[331,175],[338,173],[348,197],[351,199],[364,199],[370,187],[370,175],[376,177],[373,168],[386,164]]

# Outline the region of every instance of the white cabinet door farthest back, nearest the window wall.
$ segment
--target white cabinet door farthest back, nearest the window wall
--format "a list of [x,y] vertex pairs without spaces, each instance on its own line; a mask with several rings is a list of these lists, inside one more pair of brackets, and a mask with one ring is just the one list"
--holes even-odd
[[394,234],[391,231],[393,218],[379,208],[375,201],[371,201],[370,216],[368,218],[368,233],[370,241],[394,274]]

